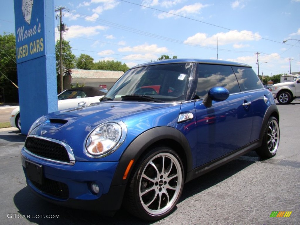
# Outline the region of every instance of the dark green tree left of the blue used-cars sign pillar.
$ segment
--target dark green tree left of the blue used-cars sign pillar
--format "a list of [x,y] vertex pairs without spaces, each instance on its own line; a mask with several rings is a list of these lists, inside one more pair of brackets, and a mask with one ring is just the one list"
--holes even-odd
[[[0,102],[18,102],[16,37],[14,34],[0,35]],[[13,83],[12,83],[13,82]]]

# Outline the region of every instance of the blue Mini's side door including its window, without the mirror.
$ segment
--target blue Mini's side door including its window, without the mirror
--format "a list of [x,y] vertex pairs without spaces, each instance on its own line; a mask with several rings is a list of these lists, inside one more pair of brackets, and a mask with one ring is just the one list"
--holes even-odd
[[205,107],[195,102],[197,126],[197,166],[220,158],[249,143],[253,111],[250,98],[240,91],[230,66],[199,64],[197,95],[202,99],[214,86],[229,90],[225,101]]

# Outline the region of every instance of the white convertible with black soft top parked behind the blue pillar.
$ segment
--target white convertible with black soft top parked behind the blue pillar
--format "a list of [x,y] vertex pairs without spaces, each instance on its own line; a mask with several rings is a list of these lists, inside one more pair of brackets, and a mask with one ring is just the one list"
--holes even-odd
[[[67,89],[57,96],[58,110],[88,106],[91,103],[99,102],[106,92],[105,89],[88,86]],[[21,130],[20,107],[11,112],[10,125]]]

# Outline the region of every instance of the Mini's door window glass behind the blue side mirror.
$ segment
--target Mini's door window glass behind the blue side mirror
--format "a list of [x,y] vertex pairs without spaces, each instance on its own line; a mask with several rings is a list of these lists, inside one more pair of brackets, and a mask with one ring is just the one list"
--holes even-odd
[[197,94],[203,98],[210,88],[221,86],[227,88],[230,94],[240,92],[235,74],[230,66],[198,64]]

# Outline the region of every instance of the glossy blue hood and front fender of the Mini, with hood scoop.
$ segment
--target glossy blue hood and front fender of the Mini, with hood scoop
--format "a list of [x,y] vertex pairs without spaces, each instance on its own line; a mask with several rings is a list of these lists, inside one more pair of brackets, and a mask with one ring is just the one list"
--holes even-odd
[[[35,122],[29,135],[62,141],[73,149],[76,160],[94,161],[82,149],[86,138],[98,125],[109,121],[124,122],[128,130],[125,141],[130,143],[148,129],[176,127],[180,108],[180,103],[101,102],[43,116]],[[110,157],[103,160],[110,160]]]

